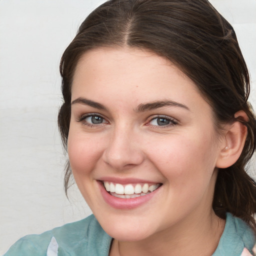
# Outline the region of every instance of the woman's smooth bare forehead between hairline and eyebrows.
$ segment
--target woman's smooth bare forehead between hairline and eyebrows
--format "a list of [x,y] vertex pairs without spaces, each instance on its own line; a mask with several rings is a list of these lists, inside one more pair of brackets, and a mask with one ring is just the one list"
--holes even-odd
[[134,49],[96,48],[79,59],[71,88],[72,100],[86,97],[116,104],[174,100],[206,103],[194,82],[165,57]]

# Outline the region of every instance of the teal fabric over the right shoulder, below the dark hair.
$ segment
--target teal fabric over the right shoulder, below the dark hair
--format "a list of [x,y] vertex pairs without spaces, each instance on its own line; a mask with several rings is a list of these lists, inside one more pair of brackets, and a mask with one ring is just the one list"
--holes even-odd
[[255,235],[252,228],[242,219],[227,213],[224,231],[212,256],[253,255],[254,244]]

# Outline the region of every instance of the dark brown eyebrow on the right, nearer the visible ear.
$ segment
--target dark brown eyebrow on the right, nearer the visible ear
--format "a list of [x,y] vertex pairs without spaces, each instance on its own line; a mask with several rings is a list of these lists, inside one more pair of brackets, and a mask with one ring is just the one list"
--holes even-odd
[[186,105],[172,101],[172,100],[160,100],[160,101],[153,101],[144,104],[139,104],[135,108],[135,112],[144,112],[147,110],[153,110],[156,108],[164,107],[164,106],[175,106],[175,107],[182,107],[186,110],[190,110]]

